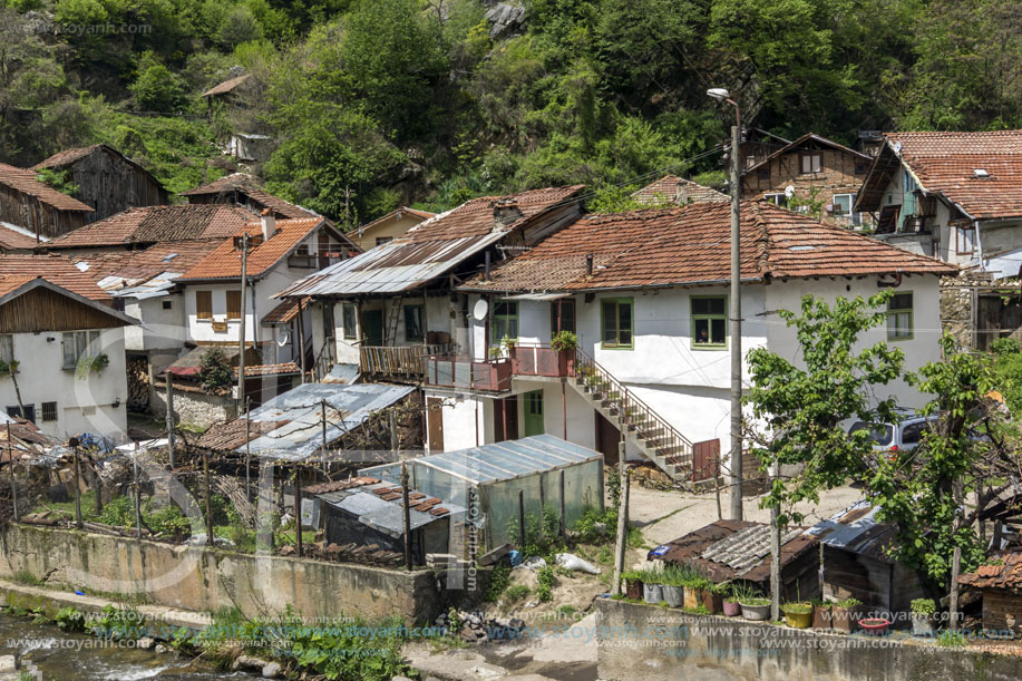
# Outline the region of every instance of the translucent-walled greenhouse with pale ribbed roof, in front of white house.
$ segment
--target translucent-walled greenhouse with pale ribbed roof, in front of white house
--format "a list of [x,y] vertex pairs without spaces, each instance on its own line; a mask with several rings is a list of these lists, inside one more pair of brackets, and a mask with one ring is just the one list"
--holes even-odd
[[[361,475],[400,484],[401,464]],[[603,455],[551,435],[408,459],[408,477],[410,487],[468,509],[481,536],[466,553],[518,544],[520,518],[528,528],[544,507],[565,529],[587,507],[603,508]]]

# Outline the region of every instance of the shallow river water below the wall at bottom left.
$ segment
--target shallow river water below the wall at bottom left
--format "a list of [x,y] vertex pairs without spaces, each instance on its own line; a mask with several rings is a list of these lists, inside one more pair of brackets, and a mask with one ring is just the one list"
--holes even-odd
[[256,679],[242,672],[218,672],[177,653],[136,650],[95,636],[32,624],[28,617],[0,613],[0,655],[18,655],[21,669],[40,681],[156,681]]

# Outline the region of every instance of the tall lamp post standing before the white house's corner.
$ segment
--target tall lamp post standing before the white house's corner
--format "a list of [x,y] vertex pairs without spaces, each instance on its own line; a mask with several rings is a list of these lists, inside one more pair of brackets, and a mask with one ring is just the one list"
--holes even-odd
[[707,95],[734,107],[731,126],[731,519],[742,519],[741,508],[741,271],[739,267],[740,230],[739,200],[741,196],[741,111],[738,103],[724,88],[710,88]]

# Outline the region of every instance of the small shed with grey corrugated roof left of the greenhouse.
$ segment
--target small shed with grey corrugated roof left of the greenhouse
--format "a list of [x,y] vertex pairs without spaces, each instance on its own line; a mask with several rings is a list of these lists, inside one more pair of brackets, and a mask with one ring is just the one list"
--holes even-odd
[[[405,504],[400,486],[360,476],[305,488],[322,502],[323,539],[328,546],[377,546],[403,554]],[[465,509],[409,489],[411,555],[417,565],[428,553],[449,553],[451,532],[460,533]]]

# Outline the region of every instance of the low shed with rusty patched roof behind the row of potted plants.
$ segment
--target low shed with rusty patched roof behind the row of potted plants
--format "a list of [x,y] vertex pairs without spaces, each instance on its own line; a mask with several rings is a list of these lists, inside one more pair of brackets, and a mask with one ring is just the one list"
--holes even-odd
[[[807,601],[819,595],[819,541],[804,527],[782,531],[781,597]],[[717,521],[658,546],[650,558],[692,565],[712,582],[746,583],[770,592],[770,526],[750,521]]]

